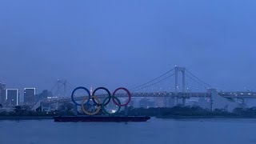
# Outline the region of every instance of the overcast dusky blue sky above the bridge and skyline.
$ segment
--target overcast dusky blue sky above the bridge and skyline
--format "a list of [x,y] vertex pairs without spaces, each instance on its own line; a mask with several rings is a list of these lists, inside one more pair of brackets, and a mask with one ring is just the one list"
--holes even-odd
[[8,88],[138,86],[185,66],[222,90],[256,90],[255,0],[2,0]]

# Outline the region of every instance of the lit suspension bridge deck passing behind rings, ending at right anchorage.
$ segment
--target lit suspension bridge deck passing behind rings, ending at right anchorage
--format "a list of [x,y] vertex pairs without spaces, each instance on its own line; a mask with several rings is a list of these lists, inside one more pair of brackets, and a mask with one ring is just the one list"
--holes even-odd
[[[210,93],[174,93],[174,92],[158,92],[158,93],[131,93],[132,98],[152,98],[152,97],[177,97],[177,98],[210,98]],[[98,98],[106,98],[107,94],[97,95]],[[126,93],[116,94],[118,98],[128,97]],[[74,97],[75,101],[82,101],[85,97]],[[57,102],[71,102],[71,98],[54,98],[41,101],[42,104],[53,104]]]

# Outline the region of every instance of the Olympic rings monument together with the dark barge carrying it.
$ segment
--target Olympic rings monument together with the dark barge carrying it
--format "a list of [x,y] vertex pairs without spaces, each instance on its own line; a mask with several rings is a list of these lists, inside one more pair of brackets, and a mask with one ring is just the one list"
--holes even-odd
[[[75,101],[74,94],[78,90],[84,90],[87,95],[83,98],[81,103]],[[100,98],[96,96],[96,92],[98,90],[105,90],[107,97],[101,102]],[[118,90],[126,91],[128,95],[128,100],[126,103],[122,104],[119,98],[116,96]],[[106,106],[110,103],[110,101],[114,102],[114,105],[118,107],[118,110],[115,110],[113,113],[110,113],[106,110]],[[128,106],[131,100],[130,91],[124,87],[119,87],[118,89],[114,90],[113,94],[110,93],[110,90],[106,89],[105,87],[98,87],[94,90],[92,94],[90,94],[90,90],[86,89],[86,87],[79,86],[75,88],[71,94],[71,101],[74,103],[75,109],[74,112],[76,114],[77,107],[82,107],[82,112],[86,115],[84,116],[57,116],[54,117],[54,122],[146,122],[150,119],[147,116],[122,116],[119,114],[122,106]],[[94,106],[97,106],[97,110],[93,112],[86,110],[86,105],[90,102],[94,103]],[[100,115],[100,112],[102,112]]]

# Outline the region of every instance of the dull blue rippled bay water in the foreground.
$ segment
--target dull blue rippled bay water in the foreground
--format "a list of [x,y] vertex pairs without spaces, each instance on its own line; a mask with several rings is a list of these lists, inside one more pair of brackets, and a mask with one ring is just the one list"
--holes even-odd
[[0,144],[45,143],[256,143],[254,119],[149,122],[0,121]]

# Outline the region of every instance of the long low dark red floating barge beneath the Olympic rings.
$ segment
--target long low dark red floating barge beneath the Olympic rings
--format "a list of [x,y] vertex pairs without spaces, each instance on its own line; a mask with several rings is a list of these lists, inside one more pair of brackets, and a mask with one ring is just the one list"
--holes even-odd
[[58,116],[54,122],[146,122],[149,119],[147,116]]

